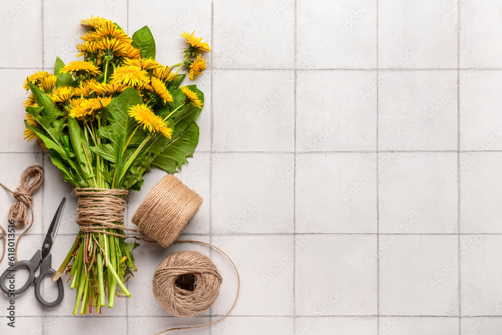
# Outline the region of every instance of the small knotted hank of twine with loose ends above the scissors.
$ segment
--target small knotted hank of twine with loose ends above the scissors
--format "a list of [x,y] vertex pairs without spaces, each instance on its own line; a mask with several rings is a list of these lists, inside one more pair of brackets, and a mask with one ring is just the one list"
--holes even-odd
[[[30,183],[31,179],[33,179],[33,181]],[[12,193],[15,199],[7,214],[9,220],[14,220],[14,228],[24,229],[28,225],[28,228],[18,237],[18,241],[16,242],[16,247],[14,249],[14,259],[16,262],[18,261],[19,241],[23,235],[30,230],[35,220],[35,214],[33,213],[33,193],[40,187],[43,181],[44,169],[40,165],[30,165],[23,171],[21,175],[21,185],[15,191],[11,190],[3,183],[0,183],[0,186]],[[30,208],[32,217],[30,224],[28,224],[28,208]],[[1,225],[0,229],[2,230],[2,240],[4,241],[4,251],[2,252],[2,258],[0,258],[0,262],[2,262],[7,245],[7,232]]]

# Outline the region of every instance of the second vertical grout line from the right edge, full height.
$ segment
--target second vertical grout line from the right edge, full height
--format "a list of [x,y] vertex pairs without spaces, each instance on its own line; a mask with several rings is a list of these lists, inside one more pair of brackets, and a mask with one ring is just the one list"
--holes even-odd
[[376,333],[380,333],[379,17],[376,0]]

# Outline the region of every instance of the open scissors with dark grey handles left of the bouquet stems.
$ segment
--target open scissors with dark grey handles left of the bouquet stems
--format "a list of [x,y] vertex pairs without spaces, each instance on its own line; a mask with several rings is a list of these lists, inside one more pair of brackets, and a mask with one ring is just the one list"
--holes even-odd
[[[58,210],[52,219],[51,226],[47,231],[47,235],[44,240],[44,244],[42,245],[42,249],[38,250],[35,255],[29,261],[20,261],[14,263],[14,265],[10,266],[3,274],[0,276],[0,288],[6,294],[14,293],[15,296],[25,292],[31,284],[35,283],[35,296],[37,297],[38,302],[44,307],[56,307],[63,301],[64,290],[63,290],[63,282],[61,278],[58,279],[58,298],[53,302],[47,302],[40,294],[40,287],[42,285],[42,281],[46,276],[52,276],[56,271],[51,268],[52,255],[49,253],[51,251],[52,244],[54,243],[54,239],[56,238],[56,234],[58,232],[59,224],[61,223],[61,214],[63,214],[64,204],[66,202],[66,198],[61,200],[59,204]],[[40,274],[35,277],[35,271],[40,266]],[[19,268],[27,268],[30,271],[30,275],[28,277],[28,281],[26,284],[17,290],[9,290],[6,286],[5,281],[8,278],[12,278],[15,271]]]

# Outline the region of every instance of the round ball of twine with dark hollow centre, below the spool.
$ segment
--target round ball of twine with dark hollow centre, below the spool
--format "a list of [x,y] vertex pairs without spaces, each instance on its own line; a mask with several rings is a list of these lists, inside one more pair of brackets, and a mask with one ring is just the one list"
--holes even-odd
[[[178,281],[193,275],[191,289],[182,288]],[[222,282],[221,275],[205,255],[196,251],[180,251],[168,256],[155,271],[154,295],[162,308],[173,315],[192,317],[213,304]]]

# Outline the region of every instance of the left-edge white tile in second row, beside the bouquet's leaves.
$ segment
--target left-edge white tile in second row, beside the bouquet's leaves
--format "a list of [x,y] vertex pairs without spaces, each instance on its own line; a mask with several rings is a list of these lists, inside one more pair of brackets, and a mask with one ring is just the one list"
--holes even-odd
[[0,81],[0,94],[9,97],[0,104],[0,122],[4,125],[0,132],[0,152],[42,151],[37,141],[27,142],[23,134],[26,128],[24,122],[26,110],[23,103],[28,98],[23,83],[26,77],[39,70],[0,69],[0,76],[9,78]]

